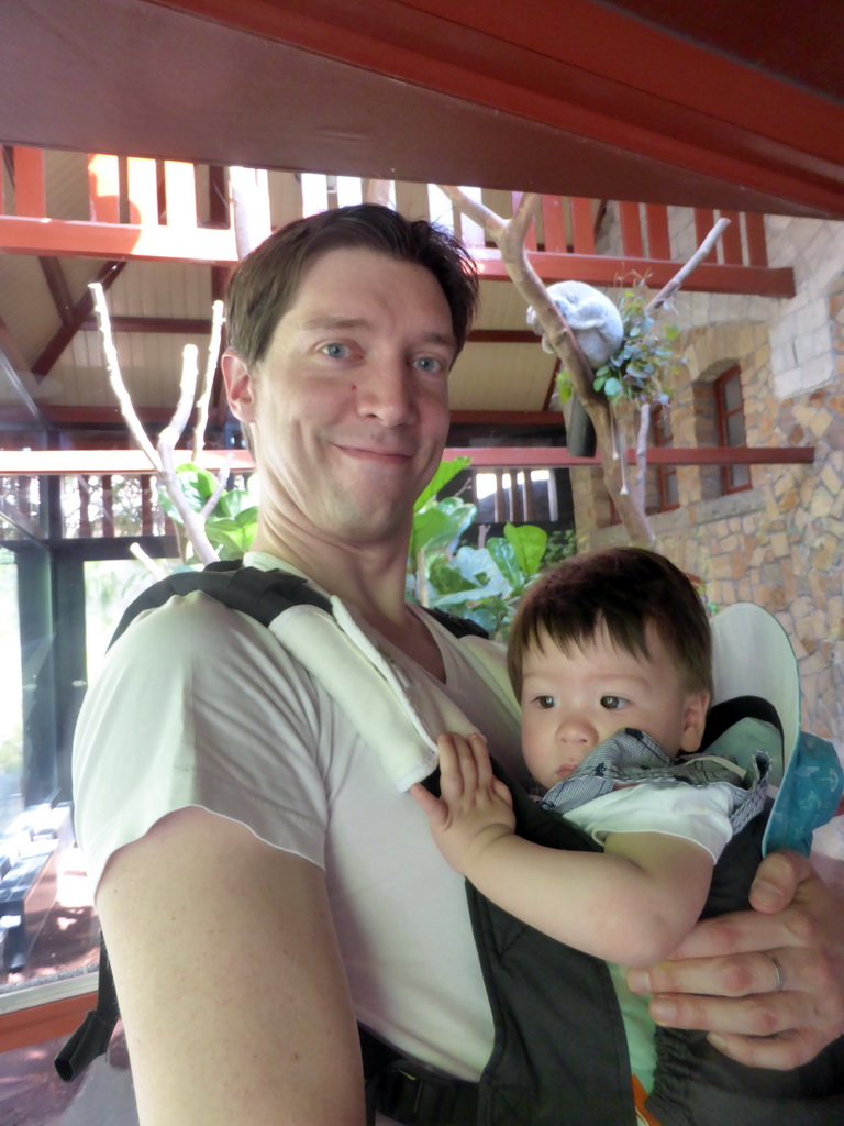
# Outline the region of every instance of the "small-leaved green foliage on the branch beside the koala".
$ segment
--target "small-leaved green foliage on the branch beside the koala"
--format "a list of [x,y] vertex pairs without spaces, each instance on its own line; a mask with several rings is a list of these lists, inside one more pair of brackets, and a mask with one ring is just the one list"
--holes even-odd
[[[635,287],[625,289],[619,302],[625,327],[621,347],[594,373],[592,386],[602,391],[612,406],[625,401],[667,404],[663,378],[685,363],[676,350],[680,329],[676,324],[658,324],[646,312],[648,300],[644,279]],[[557,393],[560,402],[572,395],[572,381],[566,372],[557,376]]]

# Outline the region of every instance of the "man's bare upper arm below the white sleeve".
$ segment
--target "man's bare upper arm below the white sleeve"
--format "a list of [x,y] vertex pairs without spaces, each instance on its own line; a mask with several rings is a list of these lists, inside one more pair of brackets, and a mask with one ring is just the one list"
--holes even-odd
[[360,1126],[360,1051],[320,868],[203,810],[97,893],[142,1126]]

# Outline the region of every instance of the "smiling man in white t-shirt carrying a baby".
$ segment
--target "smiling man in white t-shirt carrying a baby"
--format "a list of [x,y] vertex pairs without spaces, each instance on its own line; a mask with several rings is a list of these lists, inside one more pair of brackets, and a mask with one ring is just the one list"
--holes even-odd
[[[261,476],[246,562],[342,599],[408,692],[456,704],[511,761],[512,701],[404,601],[412,504],[475,305],[467,270],[447,236],[385,208],[291,224],[236,271],[223,369]],[[142,1126],[360,1124],[356,1019],[461,1078],[486,1061],[461,881],[324,679],[191,595],[132,626],[86,703],[78,829]],[[793,904],[700,928],[694,960],[639,986],[672,993],[657,1020],[789,1067],[844,1025],[844,956],[808,865],[774,858],[761,878],[758,909]]]

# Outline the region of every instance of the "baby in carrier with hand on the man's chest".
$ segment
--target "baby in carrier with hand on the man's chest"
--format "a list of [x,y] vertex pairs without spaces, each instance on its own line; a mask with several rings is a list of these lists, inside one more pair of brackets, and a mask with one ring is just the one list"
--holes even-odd
[[[697,922],[724,847],[764,804],[764,754],[745,769],[717,748],[694,753],[712,661],[697,591],[641,548],[575,556],[524,596],[508,661],[542,805],[603,851],[515,835],[510,790],[478,734],[440,738],[439,798],[412,790],[438,847],[483,895],[560,942],[626,966],[661,960]],[[613,969],[646,1092],[654,1026]]]

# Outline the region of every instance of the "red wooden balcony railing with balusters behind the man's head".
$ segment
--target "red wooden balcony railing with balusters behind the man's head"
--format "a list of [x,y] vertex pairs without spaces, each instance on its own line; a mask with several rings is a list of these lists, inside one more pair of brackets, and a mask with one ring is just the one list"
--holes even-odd
[[[7,148],[5,153],[10,190],[6,198],[0,194],[0,250],[46,257],[236,260],[224,169],[134,157],[61,154],[65,163],[84,161],[88,172],[88,217],[69,220],[48,213],[47,200],[57,193],[47,190],[44,152]],[[506,277],[499,251],[486,244],[481,229],[456,212],[432,185],[291,172],[269,172],[264,180],[276,226],[324,208],[372,199],[450,226],[472,249],[484,278]],[[1,187],[0,179],[0,191]],[[515,193],[501,190],[466,190],[504,216],[512,213],[518,198]],[[596,220],[605,206],[605,202],[592,199],[542,197],[541,212],[528,235],[528,250],[540,277],[545,282],[573,278],[614,285],[639,274],[647,275],[654,285],[664,284],[689,253],[688,245],[673,245],[670,209],[619,203],[620,247],[599,253]],[[712,225],[713,212],[684,211],[699,234]],[[724,214],[731,225],[720,248],[699,267],[686,288],[793,295],[792,271],[767,265],[763,216]]]

